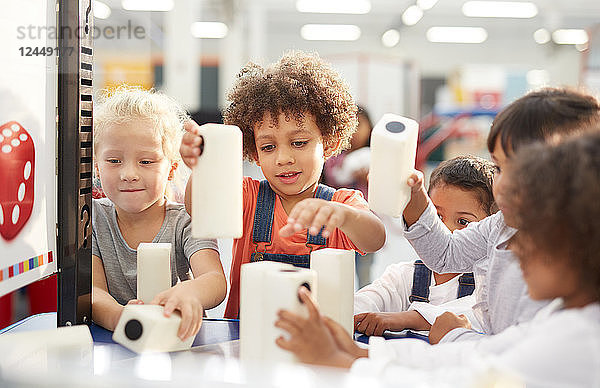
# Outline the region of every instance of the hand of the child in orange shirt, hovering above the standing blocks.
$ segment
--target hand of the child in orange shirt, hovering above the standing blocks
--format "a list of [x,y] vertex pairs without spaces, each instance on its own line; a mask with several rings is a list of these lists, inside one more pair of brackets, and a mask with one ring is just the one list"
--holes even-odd
[[339,202],[320,198],[307,198],[296,204],[288,216],[287,224],[279,230],[282,237],[290,237],[303,229],[317,235],[322,227],[323,237],[331,236],[335,228],[346,222],[352,209]]

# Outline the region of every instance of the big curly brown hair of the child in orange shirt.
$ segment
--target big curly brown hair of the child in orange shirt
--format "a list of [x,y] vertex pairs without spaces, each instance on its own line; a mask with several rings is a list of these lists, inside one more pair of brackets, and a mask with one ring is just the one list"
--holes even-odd
[[311,114],[334,154],[346,149],[358,125],[357,107],[348,85],[317,54],[285,53],[279,62],[263,68],[248,63],[227,96],[223,122],[237,125],[243,133],[244,156],[256,158],[254,128],[269,113],[277,125],[281,113],[298,122]]

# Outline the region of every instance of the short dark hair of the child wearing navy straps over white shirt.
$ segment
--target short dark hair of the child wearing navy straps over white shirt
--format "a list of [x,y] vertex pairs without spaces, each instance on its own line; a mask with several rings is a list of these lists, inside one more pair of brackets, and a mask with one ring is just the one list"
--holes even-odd
[[492,185],[494,163],[476,156],[459,156],[446,160],[431,172],[429,192],[440,185],[451,185],[477,193],[481,208],[487,215],[498,210]]

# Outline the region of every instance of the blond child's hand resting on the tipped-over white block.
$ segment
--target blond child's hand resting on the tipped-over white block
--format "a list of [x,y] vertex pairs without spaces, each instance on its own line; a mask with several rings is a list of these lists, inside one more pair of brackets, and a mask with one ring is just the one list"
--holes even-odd
[[196,294],[197,291],[192,286],[191,281],[186,280],[159,293],[151,302],[151,304],[164,306],[165,317],[170,317],[173,311],[179,310],[181,324],[177,336],[182,341],[198,334],[200,326],[202,326],[204,307]]

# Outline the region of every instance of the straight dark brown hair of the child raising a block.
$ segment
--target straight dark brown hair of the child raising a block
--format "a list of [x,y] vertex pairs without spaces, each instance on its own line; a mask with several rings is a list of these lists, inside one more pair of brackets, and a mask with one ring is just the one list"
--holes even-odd
[[509,155],[522,145],[585,132],[598,123],[600,102],[594,96],[570,88],[543,88],[498,113],[488,135],[488,150],[493,152],[500,139]]

